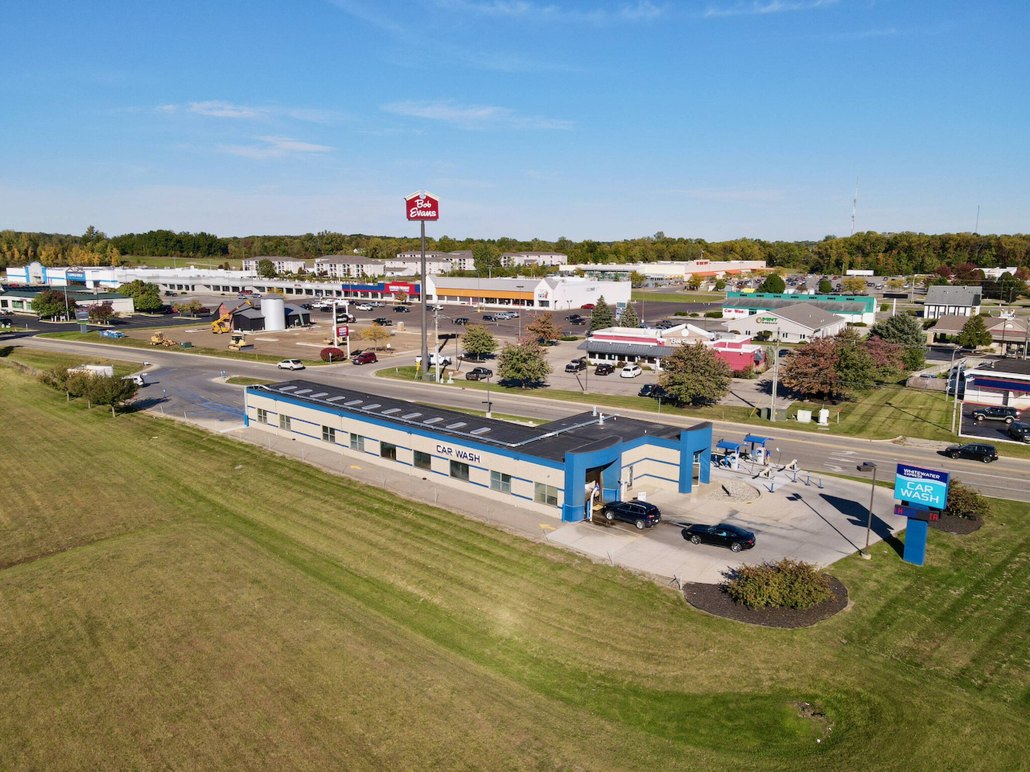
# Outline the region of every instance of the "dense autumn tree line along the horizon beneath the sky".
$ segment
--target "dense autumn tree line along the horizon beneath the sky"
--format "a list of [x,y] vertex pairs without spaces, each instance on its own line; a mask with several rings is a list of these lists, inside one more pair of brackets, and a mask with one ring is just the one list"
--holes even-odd
[[[92,225],[82,236],[0,231],[0,267],[38,259],[44,265],[117,265],[131,256],[230,257],[244,259],[263,255],[313,259],[330,254],[362,254],[387,259],[399,252],[418,249],[413,237],[345,235],[321,231],[301,236],[246,236],[219,238],[206,233],[148,231],[107,237]],[[426,238],[426,249],[441,252],[471,250],[477,265],[496,267],[504,252],[555,251],[570,262],[655,262],[690,260],[763,259],[770,268],[843,274],[850,269],[871,270],[878,275],[931,274],[940,267],[1030,267],[1030,235],[981,235],[970,233],[881,234],[857,233],[849,237],[827,236],[820,241],[765,241],[762,239],[671,238],[654,236],[622,241],[574,242],[561,237],[542,239]],[[99,262],[96,260],[100,260]],[[523,269],[523,271],[526,269]]]

